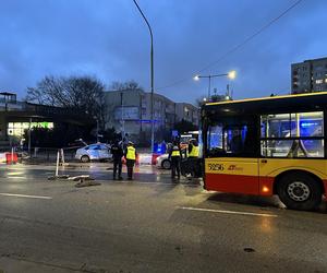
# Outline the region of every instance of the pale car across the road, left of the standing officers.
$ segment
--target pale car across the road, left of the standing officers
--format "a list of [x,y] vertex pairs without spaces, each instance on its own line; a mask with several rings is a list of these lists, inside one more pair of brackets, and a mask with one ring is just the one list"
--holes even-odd
[[96,143],[77,149],[75,158],[83,163],[90,161],[110,161],[112,154],[110,153],[110,146],[108,144]]

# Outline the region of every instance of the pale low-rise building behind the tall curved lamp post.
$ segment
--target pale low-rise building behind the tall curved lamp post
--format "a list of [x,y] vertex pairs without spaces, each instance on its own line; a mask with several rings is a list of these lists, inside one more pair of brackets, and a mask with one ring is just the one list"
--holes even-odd
[[[116,131],[128,133],[129,139],[147,144],[152,131],[152,94],[142,90],[106,92],[107,104],[106,128],[114,127]],[[175,122],[185,119],[198,124],[198,109],[184,103],[154,94],[155,140],[169,139]]]

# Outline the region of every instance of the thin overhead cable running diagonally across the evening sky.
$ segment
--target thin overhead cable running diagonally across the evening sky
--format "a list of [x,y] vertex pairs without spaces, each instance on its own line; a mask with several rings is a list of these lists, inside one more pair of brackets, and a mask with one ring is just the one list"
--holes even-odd
[[[229,55],[235,52],[237,50],[239,50],[241,47],[245,46],[249,41],[251,41],[252,39],[254,39],[256,36],[258,36],[259,34],[262,34],[264,31],[266,31],[269,26],[271,26],[274,23],[276,23],[278,20],[280,20],[282,16],[284,16],[288,12],[290,12],[292,9],[294,9],[298,4],[300,4],[303,0],[298,0],[294,3],[292,3],[288,9],[286,9],[283,12],[281,12],[277,17],[272,19],[271,21],[269,21],[267,24],[263,25],[259,29],[257,29],[256,32],[254,32],[252,35],[250,35],[249,37],[246,37],[244,40],[242,40],[240,44],[238,44],[237,46],[232,47],[230,50],[228,50],[227,52],[225,52],[222,56],[220,56],[217,60],[208,63],[207,66],[203,67],[202,69],[197,70],[197,72],[195,72],[194,74],[198,74],[199,72],[203,72],[207,69],[209,69],[210,67],[217,64],[218,62],[220,62],[221,60],[223,60],[226,57],[228,57]],[[172,87],[174,85],[179,85],[180,83],[183,83],[187,80],[190,80],[192,76],[185,76],[181,80],[174,81],[171,84],[165,85],[162,87],[159,87],[158,90],[165,90],[165,88],[169,88]]]

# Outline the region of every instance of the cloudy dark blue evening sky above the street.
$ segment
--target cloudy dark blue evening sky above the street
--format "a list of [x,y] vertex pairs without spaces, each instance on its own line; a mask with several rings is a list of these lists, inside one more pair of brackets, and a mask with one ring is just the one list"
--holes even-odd
[[[178,102],[207,94],[193,75],[238,71],[234,98],[290,92],[290,64],[327,57],[327,0],[138,0],[154,32],[155,88]],[[1,0],[0,90],[22,98],[45,75],[95,75],[149,90],[149,35],[132,0]],[[225,57],[225,58],[221,58]],[[205,70],[203,70],[206,68]],[[226,78],[213,80],[222,94]]]

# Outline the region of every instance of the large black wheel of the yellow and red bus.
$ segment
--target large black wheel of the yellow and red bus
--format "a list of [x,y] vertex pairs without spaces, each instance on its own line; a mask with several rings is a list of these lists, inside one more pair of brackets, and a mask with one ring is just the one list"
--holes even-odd
[[322,202],[318,181],[307,174],[291,173],[280,178],[277,193],[288,209],[312,211]]

